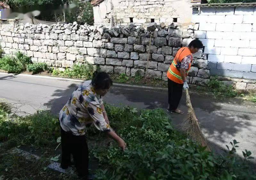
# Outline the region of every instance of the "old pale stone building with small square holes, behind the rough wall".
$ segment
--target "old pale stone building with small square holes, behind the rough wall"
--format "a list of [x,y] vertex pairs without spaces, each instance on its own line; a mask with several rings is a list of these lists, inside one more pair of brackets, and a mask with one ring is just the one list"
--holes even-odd
[[191,22],[192,4],[201,0],[92,0],[94,23],[126,25],[134,22],[143,25],[149,22]]

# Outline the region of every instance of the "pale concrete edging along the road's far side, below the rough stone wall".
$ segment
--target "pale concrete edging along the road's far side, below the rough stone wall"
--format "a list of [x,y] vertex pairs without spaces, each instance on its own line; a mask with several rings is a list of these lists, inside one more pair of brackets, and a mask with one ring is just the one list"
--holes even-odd
[[[57,78],[57,77],[38,76],[38,75],[30,75],[30,74],[16,74],[15,75],[13,73],[6,73],[6,72],[0,72],[0,74],[14,75],[14,76],[25,76],[25,77],[34,77],[34,78],[45,78],[45,79],[57,79],[57,80],[64,80],[64,81],[84,82],[84,80],[72,79],[72,78]],[[113,83],[113,85],[115,85],[115,86],[126,86],[126,87],[138,87],[138,88],[144,88],[144,89],[168,90],[168,88],[163,88],[163,87],[139,86],[139,85],[129,85],[129,84],[120,84],[120,83]]]

